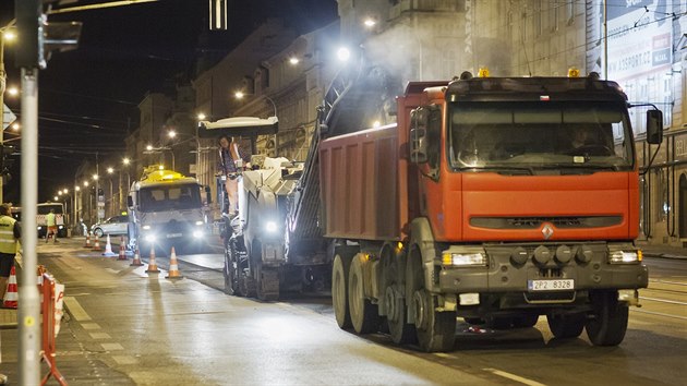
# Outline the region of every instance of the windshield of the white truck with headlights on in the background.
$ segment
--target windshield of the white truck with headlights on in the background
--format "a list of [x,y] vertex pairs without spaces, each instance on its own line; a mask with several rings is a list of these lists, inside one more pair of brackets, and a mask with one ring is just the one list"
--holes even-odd
[[170,185],[142,188],[140,193],[142,212],[194,209],[203,206],[198,185]]

